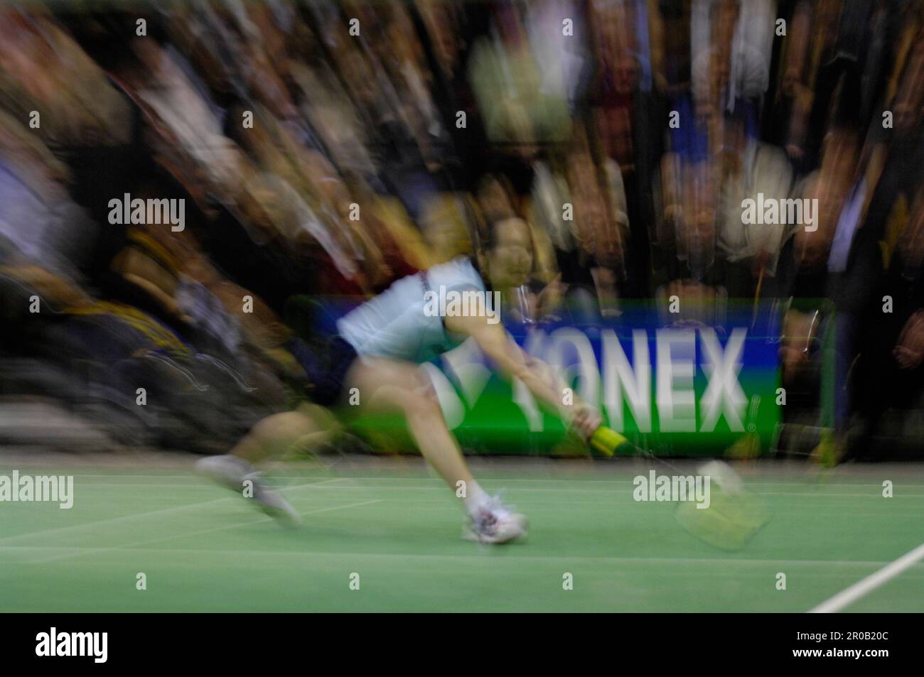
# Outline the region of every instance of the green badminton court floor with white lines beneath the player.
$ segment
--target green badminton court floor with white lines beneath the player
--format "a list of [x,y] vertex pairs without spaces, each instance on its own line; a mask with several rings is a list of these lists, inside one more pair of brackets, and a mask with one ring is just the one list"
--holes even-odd
[[[75,476],[70,510],[0,502],[0,611],[808,611],[924,541],[924,465],[741,467],[772,519],[736,552],[687,534],[670,503],[635,502],[648,467],[477,462],[530,519],[525,542],[487,547],[459,538],[455,500],[416,458],[275,468],[304,516],[286,529],[185,462],[0,456],[0,474]],[[924,611],[924,564],[845,611]]]

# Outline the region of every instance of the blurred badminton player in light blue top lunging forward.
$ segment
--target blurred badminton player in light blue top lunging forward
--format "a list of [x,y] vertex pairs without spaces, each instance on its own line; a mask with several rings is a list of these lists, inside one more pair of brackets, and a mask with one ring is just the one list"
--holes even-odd
[[[440,317],[425,312],[426,293],[438,295],[441,287],[447,294],[483,294],[488,291],[485,281],[498,291],[527,282],[533,265],[529,226],[520,219],[507,218],[492,224],[489,231],[488,242],[480,249],[477,260],[481,274],[468,257],[456,256],[398,280],[338,320],[338,335],[313,356],[315,366],[307,370],[314,372],[309,376],[315,383],[312,399],[316,404],[337,404],[357,388],[360,416],[402,415],[423,457],[453,495],[459,486],[465,487],[462,501],[468,520],[464,538],[505,543],[526,534],[526,517],[488,496],[472,478],[419,364],[471,338],[502,375],[522,381],[541,403],[585,438],[601,424],[601,417],[595,408],[577,399],[572,405],[564,405],[562,388],[550,377],[551,369],[526,355],[504,324],[489,318],[489,313]],[[428,231],[428,235],[432,234]],[[284,452],[292,442],[318,431],[321,426],[306,412],[299,409],[264,418],[230,453],[204,458],[197,464],[198,469],[238,491],[243,481],[250,479],[253,498],[264,511],[297,520],[293,508],[260,481],[253,464]],[[464,485],[458,485],[460,481]]]

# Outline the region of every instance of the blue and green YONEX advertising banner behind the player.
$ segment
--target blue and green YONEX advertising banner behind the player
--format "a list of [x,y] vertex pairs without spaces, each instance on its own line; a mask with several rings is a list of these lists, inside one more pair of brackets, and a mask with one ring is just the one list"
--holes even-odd
[[[780,318],[770,305],[730,304],[721,321],[671,321],[650,308],[601,323],[507,325],[531,357],[600,408],[608,425],[655,453],[723,453],[748,436],[766,450],[782,404]],[[421,367],[467,453],[589,453],[522,383],[496,374],[473,341]],[[563,393],[563,397],[567,393]],[[354,429],[380,451],[414,446],[399,418]]]

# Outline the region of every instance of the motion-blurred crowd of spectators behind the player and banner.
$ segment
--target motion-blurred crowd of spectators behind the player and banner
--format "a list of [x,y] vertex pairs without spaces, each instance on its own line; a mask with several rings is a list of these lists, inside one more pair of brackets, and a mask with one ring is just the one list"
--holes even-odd
[[[813,444],[919,434],[922,30],[921,0],[5,5],[0,394],[224,450],[310,388],[312,299],[518,218],[516,320],[772,304]],[[111,224],[125,194],[185,228]],[[759,194],[817,229],[745,224]]]

